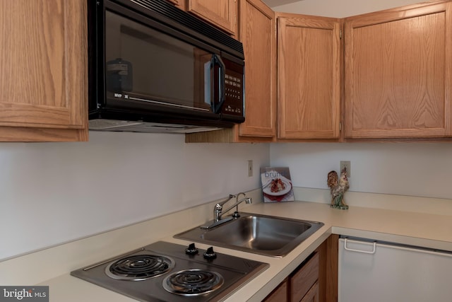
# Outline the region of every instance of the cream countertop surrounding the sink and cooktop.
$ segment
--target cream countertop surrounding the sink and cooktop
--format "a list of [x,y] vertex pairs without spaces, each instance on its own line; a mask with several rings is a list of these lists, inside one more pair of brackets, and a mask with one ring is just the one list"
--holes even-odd
[[[216,247],[215,250],[217,252],[246,257],[270,264],[268,269],[235,291],[225,301],[261,301],[275,286],[278,286],[280,281],[283,281],[293,269],[310,255],[323,240],[328,238],[331,233],[452,251],[452,216],[449,215],[422,214],[410,211],[371,209],[355,206],[350,206],[348,210],[338,210],[331,209],[329,204],[316,202],[256,203],[246,206],[246,209],[243,211],[294,219],[321,221],[324,223],[324,226],[283,258],[267,257]],[[167,223],[175,223],[178,220],[178,216],[167,216],[165,218]],[[189,241],[172,238],[172,235],[180,231],[185,231],[194,225],[201,224],[198,221],[196,223],[190,221],[186,225],[181,225],[180,222],[178,223],[179,226],[172,231],[174,233],[166,234],[161,238],[157,238],[157,240],[187,245]],[[193,225],[193,223],[195,224]],[[165,228],[165,226],[162,227]],[[95,238],[90,238],[90,240],[95,240]],[[105,239],[100,238],[98,240]],[[208,248],[208,245],[201,243],[197,243],[197,245],[199,248]],[[129,250],[138,247],[139,245],[130,246]],[[94,262],[93,260],[84,260],[78,263],[83,263],[83,265],[77,264],[78,267],[76,268],[90,265]],[[116,294],[113,291],[103,289],[100,286],[90,284],[87,281],[71,277],[69,272],[59,277],[42,281],[39,285],[49,286],[49,297],[52,302],[135,301],[126,296]]]

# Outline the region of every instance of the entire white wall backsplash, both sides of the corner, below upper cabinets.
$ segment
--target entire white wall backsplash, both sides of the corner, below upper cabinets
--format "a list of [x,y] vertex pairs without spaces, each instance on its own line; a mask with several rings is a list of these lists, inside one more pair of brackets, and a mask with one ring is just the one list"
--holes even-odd
[[[90,132],[86,143],[2,143],[0,260],[261,186],[289,166],[295,187],[452,199],[452,144],[185,144],[183,135]],[[249,178],[248,160],[254,161]]]

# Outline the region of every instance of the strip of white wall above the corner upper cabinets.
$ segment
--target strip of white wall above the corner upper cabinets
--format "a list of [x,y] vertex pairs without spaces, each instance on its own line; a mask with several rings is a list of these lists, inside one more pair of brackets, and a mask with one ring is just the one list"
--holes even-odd
[[[408,4],[417,4],[420,0],[263,0],[274,11],[285,13],[302,13],[305,15],[324,16],[333,18],[345,18],[381,11]],[[282,4],[282,5],[281,5]]]

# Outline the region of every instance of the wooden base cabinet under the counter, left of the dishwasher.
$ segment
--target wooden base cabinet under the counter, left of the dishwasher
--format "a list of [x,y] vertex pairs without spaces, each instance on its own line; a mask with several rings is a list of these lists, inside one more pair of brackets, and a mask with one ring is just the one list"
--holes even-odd
[[331,235],[323,241],[319,248],[263,301],[338,301],[338,236]]

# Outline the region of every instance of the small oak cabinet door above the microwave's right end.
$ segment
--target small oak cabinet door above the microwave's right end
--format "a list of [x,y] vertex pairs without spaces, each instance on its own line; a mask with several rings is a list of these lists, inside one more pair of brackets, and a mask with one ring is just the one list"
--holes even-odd
[[235,35],[237,32],[237,0],[189,0],[187,11],[227,33]]

